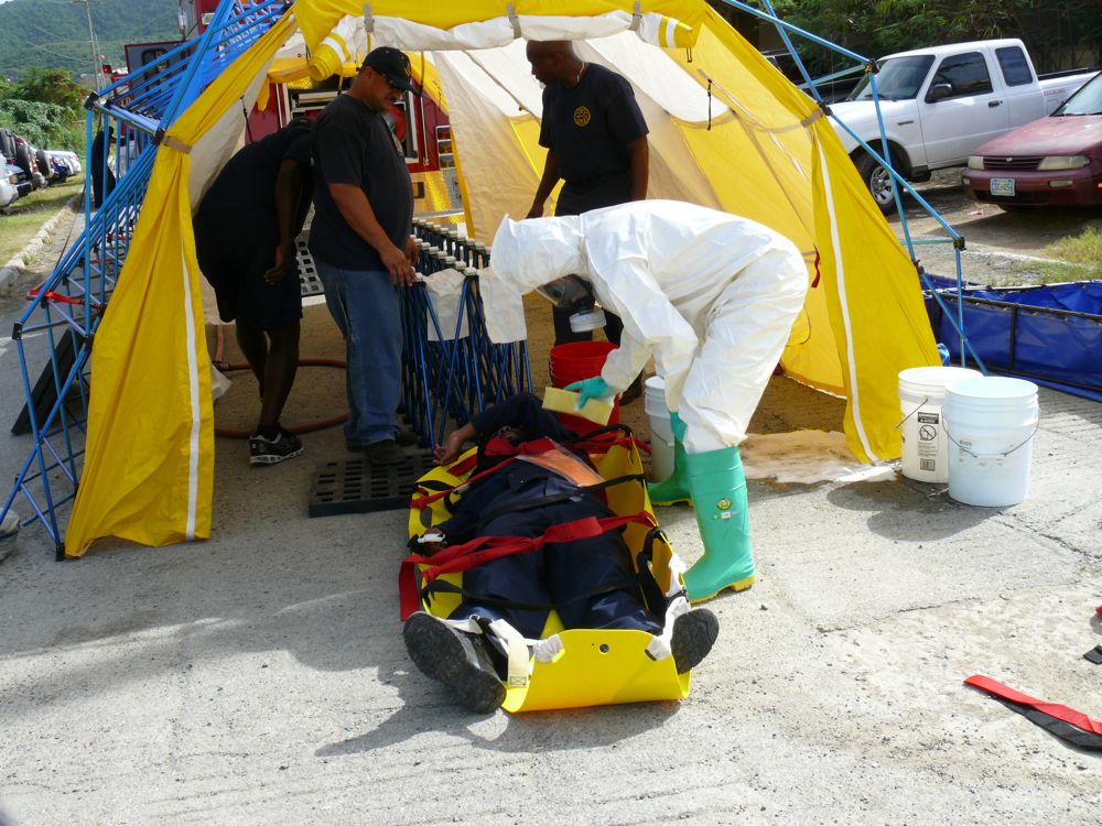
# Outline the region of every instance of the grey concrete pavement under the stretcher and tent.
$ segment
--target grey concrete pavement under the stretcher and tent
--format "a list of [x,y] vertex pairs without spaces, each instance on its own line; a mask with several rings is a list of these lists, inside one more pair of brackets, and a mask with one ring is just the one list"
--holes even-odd
[[[303,355],[338,355],[320,313]],[[4,388],[17,369],[9,341]],[[296,393],[313,417],[343,378],[304,372]],[[0,395],[2,421],[21,404]],[[219,423],[252,405],[245,379]],[[404,512],[306,517],[339,433],[263,469],[219,441],[210,541],[55,563],[31,526],[0,564],[0,823],[1098,824],[1099,754],[961,683],[1102,717],[1081,659],[1102,642],[1102,406],[1042,390],[1041,412],[1014,508],[899,476],[753,482],[759,582],[713,601],[687,700],[489,717],[404,652]],[[840,419],[780,379],[752,431]],[[0,441],[9,477],[26,449]],[[691,512],[659,517],[695,559]]]

